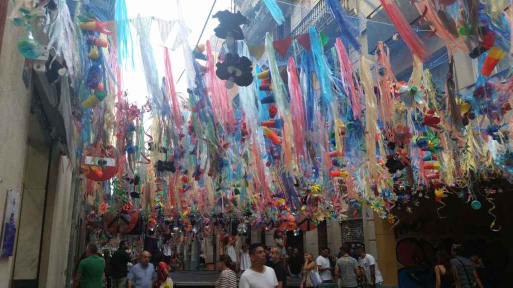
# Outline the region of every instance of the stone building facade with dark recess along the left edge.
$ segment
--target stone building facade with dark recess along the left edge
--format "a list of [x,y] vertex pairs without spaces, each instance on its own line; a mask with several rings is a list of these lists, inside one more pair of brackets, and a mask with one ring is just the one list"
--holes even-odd
[[[11,25],[14,3],[0,3],[0,215],[5,219],[7,191],[19,195],[12,215],[16,236],[11,256],[0,258],[0,287],[65,287],[69,285],[76,179],[68,156],[63,118],[48,114],[49,95],[35,70],[17,48],[23,28]],[[24,65],[25,63],[25,65]],[[44,64],[44,63],[43,63]],[[59,84],[57,84],[59,85]],[[61,93],[59,93],[61,94]],[[62,107],[62,105],[61,105]]]

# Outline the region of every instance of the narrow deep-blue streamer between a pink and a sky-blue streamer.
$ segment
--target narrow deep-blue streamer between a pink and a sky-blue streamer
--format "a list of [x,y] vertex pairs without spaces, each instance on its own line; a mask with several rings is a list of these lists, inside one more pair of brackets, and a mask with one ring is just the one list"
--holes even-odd
[[313,130],[313,109],[315,106],[315,101],[312,77],[310,73],[312,70],[311,58],[308,51],[303,51],[303,54],[301,54],[301,64],[303,65],[303,68],[301,69],[300,83],[302,84],[303,95],[305,95],[305,97],[303,97],[305,107],[305,122],[306,128],[311,131]]

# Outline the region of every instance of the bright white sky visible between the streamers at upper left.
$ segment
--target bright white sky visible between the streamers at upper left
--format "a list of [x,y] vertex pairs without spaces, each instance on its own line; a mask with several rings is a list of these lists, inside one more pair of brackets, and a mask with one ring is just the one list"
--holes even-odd
[[[193,46],[198,41],[198,37],[201,34],[201,30],[205,24],[205,20],[207,19],[214,0],[179,0],[179,2],[182,7],[186,26],[192,30],[189,35],[189,46],[193,49]],[[217,0],[212,10],[212,14],[215,14],[219,10],[230,10],[231,2],[231,0]],[[129,18],[136,18],[137,15],[140,14],[142,17],[153,16],[164,20],[178,19],[177,0],[126,0],[126,4]],[[205,44],[205,42],[210,39],[210,36],[214,34],[214,28],[218,24],[219,21],[217,19],[212,19],[212,16],[209,17],[207,26],[205,27],[205,32],[203,32],[200,40],[200,44]],[[162,45],[167,47],[172,46],[177,33],[176,28],[176,26],[173,28],[171,35],[166,40],[166,43],[162,43],[157,24],[155,21],[152,22],[150,38],[160,79],[165,75],[164,52]],[[135,69],[132,69],[131,66],[129,66],[128,71],[124,72],[124,88],[128,90],[129,101],[135,101],[138,106],[141,106],[146,103],[148,92],[143,74],[144,70],[139,56],[139,43],[137,42],[137,34],[134,29],[132,29],[132,37],[134,39],[134,53],[136,56]],[[185,68],[182,47],[179,47],[175,51],[171,51],[170,57],[176,92],[186,92],[187,80],[185,79],[185,74],[179,83],[176,84],[176,81]]]

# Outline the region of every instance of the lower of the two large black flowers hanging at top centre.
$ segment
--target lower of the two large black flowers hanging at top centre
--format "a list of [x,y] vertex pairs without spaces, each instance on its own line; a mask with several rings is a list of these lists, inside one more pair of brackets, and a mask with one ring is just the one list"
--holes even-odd
[[228,53],[225,55],[224,62],[218,62],[215,67],[215,75],[221,80],[226,80],[226,88],[233,87],[233,83],[239,86],[249,86],[253,82],[253,67],[251,61],[239,54]]

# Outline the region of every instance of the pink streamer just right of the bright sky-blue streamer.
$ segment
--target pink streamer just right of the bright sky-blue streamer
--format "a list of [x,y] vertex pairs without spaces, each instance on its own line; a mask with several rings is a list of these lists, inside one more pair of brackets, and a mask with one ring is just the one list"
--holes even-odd
[[[340,72],[342,73],[342,77],[344,79],[344,90],[346,91],[346,94],[349,97],[349,102],[351,104],[353,116],[356,119],[361,119],[362,109],[360,106],[360,95],[362,95],[362,89],[360,87],[360,83],[359,81],[356,81],[356,86],[354,85],[354,79],[358,78],[356,76],[356,73],[354,73],[352,62],[349,59],[349,56],[347,55],[347,50],[339,37],[337,37],[335,47],[337,48],[337,54],[339,56]],[[347,91],[348,84],[351,93]]]

